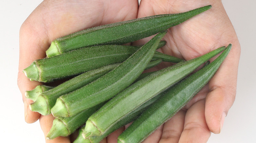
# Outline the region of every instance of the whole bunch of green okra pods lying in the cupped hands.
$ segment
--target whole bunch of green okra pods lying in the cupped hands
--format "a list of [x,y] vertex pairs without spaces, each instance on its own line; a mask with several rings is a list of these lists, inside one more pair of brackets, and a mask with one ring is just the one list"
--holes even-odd
[[[69,79],[56,87],[46,84],[26,91],[34,101],[32,111],[55,117],[47,139],[79,129],[75,143],[100,142],[133,121],[118,142],[143,141],[207,84],[229,53],[231,44],[184,61],[156,51],[165,45],[161,39],[168,28],[210,8],[102,25],[54,40],[47,57],[23,71],[31,81]],[[123,45],[155,34],[144,45]],[[162,61],[175,64],[142,73]]]

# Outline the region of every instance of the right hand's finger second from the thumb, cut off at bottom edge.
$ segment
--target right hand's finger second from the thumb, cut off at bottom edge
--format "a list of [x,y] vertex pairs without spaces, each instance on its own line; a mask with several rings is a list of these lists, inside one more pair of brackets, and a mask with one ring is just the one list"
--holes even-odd
[[186,111],[180,110],[163,126],[162,136],[159,143],[177,143],[181,137],[184,127]]

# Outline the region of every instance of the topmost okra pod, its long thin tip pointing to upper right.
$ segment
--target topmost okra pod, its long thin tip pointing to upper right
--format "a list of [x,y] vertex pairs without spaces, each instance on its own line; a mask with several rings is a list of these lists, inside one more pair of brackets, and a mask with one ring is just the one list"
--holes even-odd
[[211,7],[209,5],[183,13],[154,15],[88,28],[53,40],[46,51],[46,55],[48,57],[56,56],[78,48],[94,45],[121,45],[133,42],[178,25]]

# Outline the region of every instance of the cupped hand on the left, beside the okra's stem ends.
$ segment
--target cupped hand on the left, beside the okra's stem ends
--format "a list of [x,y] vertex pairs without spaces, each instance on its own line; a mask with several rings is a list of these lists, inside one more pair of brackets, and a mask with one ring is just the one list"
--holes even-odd
[[[20,28],[17,79],[24,102],[26,122],[33,123],[40,119],[41,128],[46,136],[54,118],[52,115],[41,116],[29,109],[32,101],[26,99],[24,93],[41,83],[30,81],[22,71],[32,61],[45,58],[45,51],[54,39],[89,27],[135,19],[138,5],[137,0],[45,0],[31,13]],[[46,142],[68,143],[70,140],[70,137],[58,137]]]

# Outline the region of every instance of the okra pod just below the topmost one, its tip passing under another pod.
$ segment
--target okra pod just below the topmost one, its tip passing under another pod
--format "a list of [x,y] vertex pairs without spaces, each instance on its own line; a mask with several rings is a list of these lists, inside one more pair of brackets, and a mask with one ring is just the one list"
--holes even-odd
[[[31,80],[51,82],[77,75],[102,66],[120,63],[134,54],[139,47],[125,45],[101,45],[77,49],[51,58],[37,59],[24,69]],[[152,60],[180,62],[182,59],[155,51]]]

